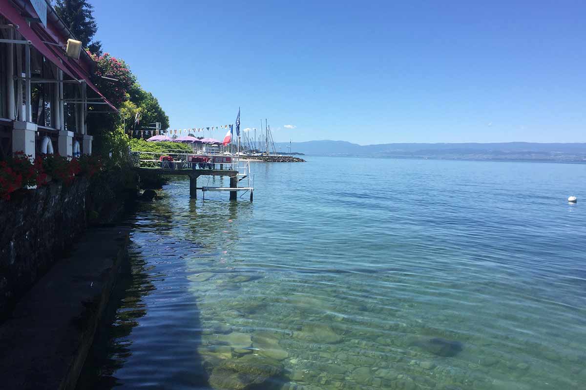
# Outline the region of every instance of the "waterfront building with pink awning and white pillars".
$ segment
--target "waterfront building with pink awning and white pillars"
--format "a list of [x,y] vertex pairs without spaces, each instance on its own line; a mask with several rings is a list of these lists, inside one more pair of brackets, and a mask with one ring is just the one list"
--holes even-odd
[[46,0],[0,0],[0,160],[91,154],[87,116],[116,108],[91,82],[86,51],[67,55],[69,39]]

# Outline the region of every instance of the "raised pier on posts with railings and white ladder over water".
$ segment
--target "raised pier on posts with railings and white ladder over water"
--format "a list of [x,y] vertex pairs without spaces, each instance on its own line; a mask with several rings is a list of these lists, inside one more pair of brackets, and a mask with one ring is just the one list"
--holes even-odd
[[[133,152],[139,154],[155,154],[149,152]],[[156,153],[159,154],[159,153]],[[134,169],[139,174],[156,174],[156,175],[186,175],[189,176],[189,196],[190,198],[197,198],[197,190],[203,193],[206,191],[227,191],[230,192],[230,201],[236,201],[238,191],[249,191],[250,201],[253,201],[254,187],[250,181],[250,162],[240,161],[237,158],[227,158],[224,156],[205,156],[210,158],[210,163],[190,163],[193,154],[173,154],[177,160],[162,162],[152,159],[135,158],[138,166]],[[214,159],[213,157],[217,157]],[[224,160],[221,160],[221,159]],[[216,162],[214,162],[216,161]],[[223,161],[221,163],[217,161]],[[151,165],[159,164],[155,167],[141,167],[141,163],[149,163]],[[155,164],[153,164],[155,163]],[[226,176],[230,178],[230,187],[197,187],[197,178],[200,176]],[[238,187],[240,181],[247,179],[247,187]]]

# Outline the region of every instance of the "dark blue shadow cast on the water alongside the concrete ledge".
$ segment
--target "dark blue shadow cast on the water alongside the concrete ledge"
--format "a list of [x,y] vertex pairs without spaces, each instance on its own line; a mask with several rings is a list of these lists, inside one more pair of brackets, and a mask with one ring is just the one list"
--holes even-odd
[[[200,240],[214,241],[226,229],[226,222],[231,225],[236,221],[238,204],[223,201],[223,212],[214,218],[200,218],[203,203],[207,203],[209,216],[210,209],[219,207],[217,201],[182,201],[186,202],[163,198],[144,203],[128,221],[133,232],[130,261],[121,271],[98,325],[77,389],[132,387],[138,378],[159,385],[168,381],[172,388],[211,388],[209,376],[214,365],[209,360],[204,363],[199,353],[203,327],[197,294],[185,294],[189,289],[186,276],[193,273],[186,268],[186,258],[206,260],[219,254]],[[201,263],[197,267],[198,271],[206,268]],[[214,272],[231,272],[212,268]],[[165,350],[172,350],[180,363],[169,359]]]

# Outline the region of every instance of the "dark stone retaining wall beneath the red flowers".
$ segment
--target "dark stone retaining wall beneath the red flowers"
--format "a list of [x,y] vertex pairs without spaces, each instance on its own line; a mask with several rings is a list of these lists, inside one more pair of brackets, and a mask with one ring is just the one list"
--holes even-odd
[[15,192],[0,200],[0,321],[93,223],[110,223],[136,196],[118,172]]

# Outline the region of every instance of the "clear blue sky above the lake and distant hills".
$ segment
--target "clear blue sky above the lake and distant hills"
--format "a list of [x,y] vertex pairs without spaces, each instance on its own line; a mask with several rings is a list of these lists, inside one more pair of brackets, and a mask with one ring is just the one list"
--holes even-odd
[[586,141],[584,1],[90,1],[172,129],[240,106],[275,141]]

